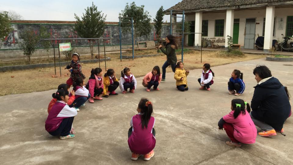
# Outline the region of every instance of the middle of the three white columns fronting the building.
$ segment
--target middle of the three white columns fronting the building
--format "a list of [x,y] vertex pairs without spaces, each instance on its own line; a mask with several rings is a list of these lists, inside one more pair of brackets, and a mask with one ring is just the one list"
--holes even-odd
[[233,37],[233,24],[234,24],[234,9],[227,9],[227,11],[226,11],[226,30],[225,30],[225,48],[228,47],[227,35]]

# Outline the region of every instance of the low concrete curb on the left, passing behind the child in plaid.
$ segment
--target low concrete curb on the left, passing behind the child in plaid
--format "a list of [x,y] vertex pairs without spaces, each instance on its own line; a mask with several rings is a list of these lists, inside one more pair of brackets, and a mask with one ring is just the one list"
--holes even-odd
[[[110,57],[106,57],[106,61],[110,61]],[[105,61],[104,59],[100,59],[100,62]],[[99,59],[94,60],[82,60],[80,63],[94,63],[99,62]],[[61,62],[61,66],[66,66],[70,62]],[[4,66],[0,67],[0,71],[16,71],[16,70],[24,70],[24,69],[34,69],[34,68],[48,68],[53,67],[54,63],[47,63],[47,64],[30,64],[30,65],[16,65],[16,66]],[[59,67],[59,62],[56,62],[56,67]]]

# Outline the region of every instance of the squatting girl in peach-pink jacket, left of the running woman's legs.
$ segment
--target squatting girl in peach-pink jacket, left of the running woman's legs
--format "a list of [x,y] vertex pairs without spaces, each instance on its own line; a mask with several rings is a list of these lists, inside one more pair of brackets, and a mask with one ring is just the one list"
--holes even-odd
[[160,90],[158,88],[160,82],[162,79],[162,74],[160,72],[160,67],[159,66],[155,66],[153,68],[153,71],[147,73],[147,75],[145,75],[143,77],[143,86],[147,87],[147,92],[150,92],[150,88],[152,86],[154,86],[154,90]]

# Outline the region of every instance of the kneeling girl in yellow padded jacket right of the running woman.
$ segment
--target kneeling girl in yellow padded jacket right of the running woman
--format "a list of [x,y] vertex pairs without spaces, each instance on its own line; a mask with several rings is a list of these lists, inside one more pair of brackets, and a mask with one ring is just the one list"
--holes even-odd
[[187,75],[189,74],[189,71],[185,71],[183,69],[183,63],[181,61],[177,62],[174,79],[176,79],[176,86],[178,90],[181,90],[184,92],[185,90],[188,90],[187,86]]

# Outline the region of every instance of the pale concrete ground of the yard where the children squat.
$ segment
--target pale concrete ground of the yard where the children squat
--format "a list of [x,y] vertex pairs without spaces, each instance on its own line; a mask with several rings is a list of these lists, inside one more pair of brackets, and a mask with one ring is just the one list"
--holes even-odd
[[[230,139],[218,130],[218,121],[230,112],[233,98],[250,103],[256,85],[252,70],[258,64],[268,66],[293,94],[293,62],[264,58],[212,66],[215,83],[211,91],[198,89],[201,69],[190,71],[185,92],[175,89],[173,73],[167,73],[160,91],[146,92],[142,78],[137,78],[134,94],[117,90],[118,96],[87,102],[74,118],[76,137],[68,140],[45,131],[47,106],[55,90],[2,96],[0,164],[293,164],[292,117],[284,124],[287,136],[257,136],[255,144],[241,148],[226,145]],[[235,68],[244,73],[246,84],[244,94],[237,97],[227,90]],[[129,122],[141,97],[152,101],[156,119],[157,144],[150,161],[132,161],[127,144]]]

